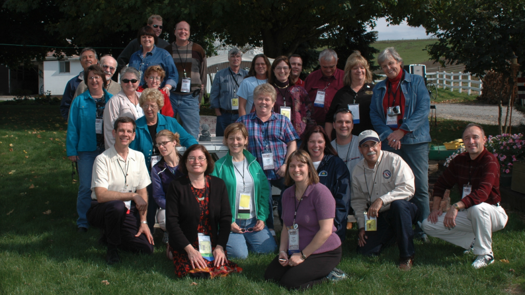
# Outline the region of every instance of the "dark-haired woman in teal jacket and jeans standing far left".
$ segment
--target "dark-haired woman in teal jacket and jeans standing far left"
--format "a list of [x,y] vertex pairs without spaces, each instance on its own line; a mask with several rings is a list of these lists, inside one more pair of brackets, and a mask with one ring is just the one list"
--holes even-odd
[[89,228],[86,213],[91,207],[91,174],[95,158],[104,151],[102,115],[111,94],[106,91],[106,74],[99,66],[84,71],[88,91],[77,96],[69,109],[66,150],[69,160],[78,165],[77,227]]

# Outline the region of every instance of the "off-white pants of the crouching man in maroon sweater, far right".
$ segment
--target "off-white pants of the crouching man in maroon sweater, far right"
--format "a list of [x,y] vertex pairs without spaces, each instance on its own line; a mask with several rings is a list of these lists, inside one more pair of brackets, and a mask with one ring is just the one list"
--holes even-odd
[[505,209],[487,203],[458,212],[456,227],[452,229],[443,225],[445,215],[443,213],[439,216],[436,224],[430,223],[428,218],[423,220],[422,228],[425,233],[465,249],[469,249],[474,241],[475,255],[492,252],[492,233],[505,227],[508,219]]

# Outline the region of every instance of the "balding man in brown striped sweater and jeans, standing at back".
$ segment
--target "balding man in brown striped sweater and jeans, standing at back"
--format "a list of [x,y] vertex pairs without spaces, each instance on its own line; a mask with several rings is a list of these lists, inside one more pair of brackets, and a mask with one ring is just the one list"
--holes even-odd
[[170,92],[173,112],[181,116],[182,127],[197,139],[199,106],[206,85],[206,52],[190,38],[190,24],[182,20],[175,25],[175,42],[165,47],[178,71],[177,88]]

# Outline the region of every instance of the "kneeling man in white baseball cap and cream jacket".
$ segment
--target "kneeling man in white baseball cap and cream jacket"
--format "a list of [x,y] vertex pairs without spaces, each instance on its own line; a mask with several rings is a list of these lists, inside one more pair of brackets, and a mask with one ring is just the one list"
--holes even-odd
[[414,174],[401,156],[381,150],[379,135],[365,130],[358,137],[364,159],[352,171],[351,205],[358,220],[358,252],[367,256],[397,242],[399,268],[414,263],[414,231],[419,210],[408,202],[414,196]]

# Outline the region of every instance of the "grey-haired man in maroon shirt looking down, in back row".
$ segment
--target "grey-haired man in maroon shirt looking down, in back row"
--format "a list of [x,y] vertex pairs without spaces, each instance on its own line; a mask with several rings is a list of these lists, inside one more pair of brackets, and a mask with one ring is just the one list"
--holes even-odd
[[312,119],[323,127],[324,118],[335,93],[344,86],[344,71],[337,68],[338,60],[335,51],[330,48],[324,49],[319,54],[321,69],[311,72],[304,80],[304,89],[313,102]]

